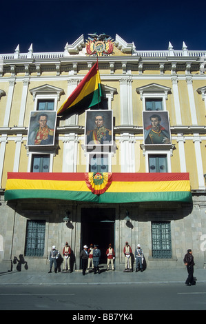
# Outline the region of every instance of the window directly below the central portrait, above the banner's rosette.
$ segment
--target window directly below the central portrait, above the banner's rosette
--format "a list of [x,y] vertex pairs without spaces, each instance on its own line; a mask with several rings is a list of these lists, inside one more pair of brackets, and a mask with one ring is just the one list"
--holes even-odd
[[89,172],[108,172],[107,154],[90,154]]

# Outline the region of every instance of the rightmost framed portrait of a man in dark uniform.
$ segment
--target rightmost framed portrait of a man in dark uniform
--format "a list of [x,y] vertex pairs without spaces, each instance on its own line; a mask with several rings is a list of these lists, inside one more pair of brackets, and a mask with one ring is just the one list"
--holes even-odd
[[167,111],[143,112],[145,145],[171,145],[169,114]]

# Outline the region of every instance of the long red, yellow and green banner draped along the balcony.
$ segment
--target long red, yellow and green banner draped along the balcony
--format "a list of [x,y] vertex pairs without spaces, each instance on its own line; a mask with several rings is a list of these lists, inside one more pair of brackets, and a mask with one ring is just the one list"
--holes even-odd
[[95,203],[192,202],[188,173],[112,173],[109,176],[105,174],[104,178],[106,181],[103,187],[99,188],[103,191],[95,193],[92,190],[92,173],[8,172],[5,200],[61,199]]

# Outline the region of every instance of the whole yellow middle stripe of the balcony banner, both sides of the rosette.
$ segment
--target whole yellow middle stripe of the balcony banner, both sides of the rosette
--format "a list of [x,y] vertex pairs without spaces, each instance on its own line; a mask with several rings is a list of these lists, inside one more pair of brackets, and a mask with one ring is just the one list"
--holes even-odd
[[[85,181],[8,179],[6,190],[68,190],[90,192]],[[113,181],[107,192],[190,192],[189,181]]]

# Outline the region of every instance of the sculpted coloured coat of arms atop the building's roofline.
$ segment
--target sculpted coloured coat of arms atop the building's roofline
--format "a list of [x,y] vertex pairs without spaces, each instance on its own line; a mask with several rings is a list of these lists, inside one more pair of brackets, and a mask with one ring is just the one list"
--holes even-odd
[[87,55],[103,57],[112,54],[114,48],[112,41],[112,37],[104,33],[100,35],[88,34],[88,40],[85,44]]

